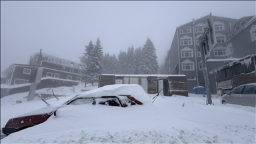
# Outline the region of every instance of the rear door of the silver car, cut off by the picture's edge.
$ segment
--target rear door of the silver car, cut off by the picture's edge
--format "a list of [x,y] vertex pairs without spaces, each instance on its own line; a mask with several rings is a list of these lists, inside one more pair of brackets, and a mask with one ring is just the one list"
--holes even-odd
[[256,87],[246,85],[240,97],[241,105],[255,106],[256,103]]

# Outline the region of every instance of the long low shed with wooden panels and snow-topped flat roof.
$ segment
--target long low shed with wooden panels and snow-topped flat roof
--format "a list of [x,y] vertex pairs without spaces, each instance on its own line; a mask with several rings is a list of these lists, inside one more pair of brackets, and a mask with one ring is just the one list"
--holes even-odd
[[187,77],[185,75],[107,75],[99,76],[99,87],[114,84],[139,84],[146,93],[158,93],[171,96],[188,96]]

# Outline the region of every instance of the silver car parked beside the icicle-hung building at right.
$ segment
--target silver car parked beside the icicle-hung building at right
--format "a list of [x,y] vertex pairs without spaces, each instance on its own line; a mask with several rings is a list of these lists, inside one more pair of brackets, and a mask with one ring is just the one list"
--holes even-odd
[[256,83],[239,85],[221,97],[221,103],[256,106]]

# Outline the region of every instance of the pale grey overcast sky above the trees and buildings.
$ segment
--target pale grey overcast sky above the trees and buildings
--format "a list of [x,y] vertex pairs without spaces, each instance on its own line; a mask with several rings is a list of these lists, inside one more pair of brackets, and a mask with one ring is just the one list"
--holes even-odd
[[79,62],[89,41],[119,55],[147,37],[163,63],[175,29],[205,15],[255,15],[255,1],[1,1],[1,71],[39,53]]

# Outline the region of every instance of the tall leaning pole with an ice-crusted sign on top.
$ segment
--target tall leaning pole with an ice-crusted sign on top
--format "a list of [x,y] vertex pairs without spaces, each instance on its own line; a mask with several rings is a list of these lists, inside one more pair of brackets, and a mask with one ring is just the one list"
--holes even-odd
[[213,25],[213,18],[211,13],[207,22],[205,24],[205,29],[201,36],[199,37],[199,47],[197,49],[201,52],[202,66],[203,66],[203,78],[205,79],[205,89],[207,94],[207,105],[212,104],[211,101],[211,92],[210,92],[210,83],[209,77],[207,73],[207,65],[205,62],[205,57],[207,57],[208,53],[210,53],[211,49],[213,49],[214,45],[217,43],[215,37],[215,29]]

